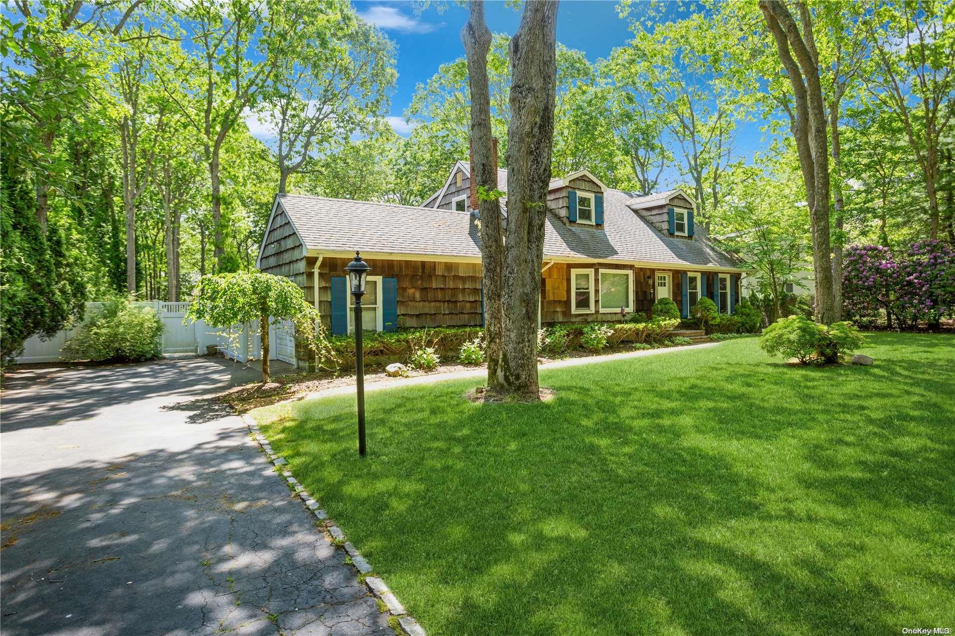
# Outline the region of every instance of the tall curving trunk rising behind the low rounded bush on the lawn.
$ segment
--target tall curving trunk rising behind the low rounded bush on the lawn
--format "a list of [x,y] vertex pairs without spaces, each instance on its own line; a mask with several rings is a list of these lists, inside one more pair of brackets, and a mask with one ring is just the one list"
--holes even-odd
[[[779,0],[760,0],[766,24],[776,43],[779,59],[789,75],[796,97],[793,134],[806,185],[806,202],[813,236],[813,270],[816,278],[816,318],[830,324],[838,321],[839,307],[833,285],[829,233],[829,157],[826,116],[819,82],[816,44],[809,9],[800,3],[803,32]],[[792,47],[792,53],[790,48]],[[793,55],[796,55],[794,59]],[[798,60],[798,63],[796,63]]]

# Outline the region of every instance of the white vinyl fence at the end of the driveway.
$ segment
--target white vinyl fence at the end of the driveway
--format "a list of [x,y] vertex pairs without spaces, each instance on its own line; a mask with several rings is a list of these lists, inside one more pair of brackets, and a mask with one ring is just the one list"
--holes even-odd
[[[136,303],[153,307],[162,320],[162,353],[204,354],[206,347],[215,345],[225,357],[239,362],[257,360],[262,347],[258,323],[234,325],[229,329],[209,327],[201,320],[183,322],[189,303],[163,303],[148,301]],[[103,306],[102,303],[87,303],[86,315],[93,315]],[[24,343],[23,354],[16,359],[18,363],[59,362],[63,345],[83,329],[82,325],[74,329],[63,329],[50,340],[41,340],[33,336]],[[295,331],[290,321],[279,321],[268,329],[269,359],[282,360],[295,364]]]

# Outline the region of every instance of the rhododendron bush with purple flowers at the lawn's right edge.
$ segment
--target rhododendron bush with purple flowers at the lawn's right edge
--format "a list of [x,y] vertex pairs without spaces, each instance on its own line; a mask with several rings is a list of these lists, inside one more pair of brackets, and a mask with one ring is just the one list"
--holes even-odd
[[846,249],[843,311],[859,324],[875,324],[884,312],[889,327],[937,325],[955,311],[955,250],[940,241],[911,244],[893,253],[881,245]]

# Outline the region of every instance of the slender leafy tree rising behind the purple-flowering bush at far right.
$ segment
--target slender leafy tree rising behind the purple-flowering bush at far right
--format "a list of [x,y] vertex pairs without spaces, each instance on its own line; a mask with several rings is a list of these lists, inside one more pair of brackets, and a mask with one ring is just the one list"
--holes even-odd
[[955,29],[944,25],[946,6],[935,0],[886,2],[868,21],[878,69],[870,90],[902,119],[922,169],[932,239],[939,234],[939,149],[955,117]]

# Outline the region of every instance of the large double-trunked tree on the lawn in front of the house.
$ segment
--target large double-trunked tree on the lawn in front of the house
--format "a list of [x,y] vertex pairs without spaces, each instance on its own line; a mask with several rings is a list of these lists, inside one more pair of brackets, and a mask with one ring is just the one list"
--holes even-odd
[[526,4],[509,47],[511,120],[507,129],[507,226],[503,231],[498,205],[483,201],[494,191],[496,166],[486,82],[490,32],[479,0],[472,1],[468,24],[461,31],[471,78],[474,177],[484,193],[478,199],[488,359],[497,358],[488,363],[488,388],[528,400],[540,399],[537,312],[554,138],[557,8],[557,2]]

